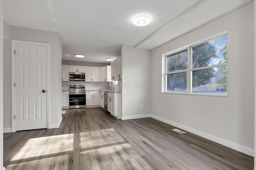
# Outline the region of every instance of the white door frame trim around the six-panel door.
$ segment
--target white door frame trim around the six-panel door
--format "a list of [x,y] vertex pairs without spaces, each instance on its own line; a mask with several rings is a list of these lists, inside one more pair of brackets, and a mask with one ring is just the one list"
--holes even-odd
[[15,44],[16,43],[22,43],[22,44],[29,44],[29,45],[41,45],[41,46],[46,46],[47,48],[47,57],[46,57],[46,61],[47,61],[47,66],[46,66],[46,106],[47,106],[47,129],[50,129],[50,44],[46,44],[46,43],[36,43],[36,42],[29,42],[29,41],[19,41],[19,40],[13,40],[12,39],[12,132],[15,132],[15,119],[14,119],[14,115],[16,115],[15,113],[15,87],[14,87],[14,83],[15,83],[15,54],[14,54],[14,50],[15,50]]

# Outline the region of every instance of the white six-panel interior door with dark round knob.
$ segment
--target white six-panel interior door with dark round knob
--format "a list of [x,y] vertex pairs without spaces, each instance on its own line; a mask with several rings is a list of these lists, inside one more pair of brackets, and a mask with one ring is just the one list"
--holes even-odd
[[15,130],[47,128],[47,47],[15,43],[15,51]]

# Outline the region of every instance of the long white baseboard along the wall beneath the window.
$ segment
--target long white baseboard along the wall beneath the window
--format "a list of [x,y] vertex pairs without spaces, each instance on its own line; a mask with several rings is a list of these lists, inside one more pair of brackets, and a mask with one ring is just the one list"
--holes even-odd
[[232,148],[234,150],[238,150],[239,152],[242,152],[242,153],[245,153],[245,154],[248,154],[250,156],[254,156],[254,149],[251,149],[251,148],[248,148],[248,147],[245,147],[243,145],[240,145],[240,144],[237,144],[237,143],[234,143],[234,142],[231,142],[231,141],[228,141],[226,139],[222,139],[220,137],[216,137],[214,135],[210,135],[209,133],[205,133],[203,131],[199,131],[197,129],[193,129],[191,127],[188,127],[188,126],[185,126],[185,125],[182,125],[180,123],[176,123],[174,121],[170,121],[168,119],[164,119],[162,117],[159,117],[159,116],[156,116],[156,115],[151,115],[152,118],[156,119],[156,120],[159,120],[159,121],[162,121],[164,123],[167,123],[169,125],[172,125],[172,126],[175,126],[175,127],[178,127],[180,129],[183,129],[185,131],[188,131],[190,133],[194,133],[200,137],[204,137],[206,139],[209,139],[210,141],[214,141],[216,143],[219,143],[221,145],[224,145],[226,147],[229,147],[229,148]]

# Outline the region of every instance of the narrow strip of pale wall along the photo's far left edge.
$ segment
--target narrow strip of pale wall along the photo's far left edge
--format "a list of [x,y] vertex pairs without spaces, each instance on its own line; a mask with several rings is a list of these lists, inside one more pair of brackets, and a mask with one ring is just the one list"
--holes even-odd
[[3,1],[0,0],[0,169],[3,168]]

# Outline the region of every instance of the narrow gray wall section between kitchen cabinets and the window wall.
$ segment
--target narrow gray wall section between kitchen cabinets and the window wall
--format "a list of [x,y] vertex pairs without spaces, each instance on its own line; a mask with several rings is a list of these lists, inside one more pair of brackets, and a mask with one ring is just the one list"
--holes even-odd
[[150,51],[122,45],[122,119],[150,114],[150,69]]

